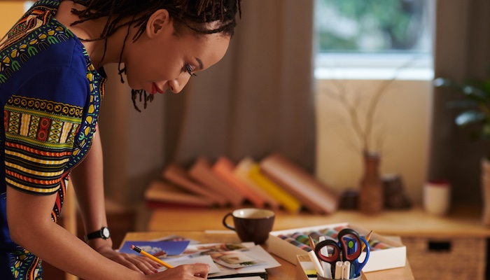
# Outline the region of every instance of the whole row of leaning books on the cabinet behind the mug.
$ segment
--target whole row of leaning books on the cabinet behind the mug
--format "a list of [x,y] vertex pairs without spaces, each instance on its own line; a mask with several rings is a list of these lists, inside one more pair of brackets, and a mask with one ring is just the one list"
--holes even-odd
[[250,157],[232,162],[221,156],[215,162],[200,157],[189,168],[172,163],[162,178],[145,192],[148,206],[243,207],[284,209],[295,214],[337,210],[339,195],[330,186],[279,153],[255,161]]

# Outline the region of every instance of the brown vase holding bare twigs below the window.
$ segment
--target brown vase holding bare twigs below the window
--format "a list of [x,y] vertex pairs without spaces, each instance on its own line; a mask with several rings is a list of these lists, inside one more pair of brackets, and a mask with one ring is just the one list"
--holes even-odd
[[383,210],[384,194],[379,161],[377,153],[364,153],[364,173],[360,179],[358,197],[358,209],[364,214],[377,214]]

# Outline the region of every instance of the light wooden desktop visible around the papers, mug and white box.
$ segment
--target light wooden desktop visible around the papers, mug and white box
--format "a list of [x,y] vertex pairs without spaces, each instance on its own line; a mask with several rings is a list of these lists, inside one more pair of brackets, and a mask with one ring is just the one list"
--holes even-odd
[[[235,234],[228,233],[207,233],[204,231],[167,231],[167,232],[128,232],[124,240],[151,240],[166,237],[169,235],[179,235],[190,239],[198,240],[202,243],[214,242],[238,242],[239,239]],[[267,250],[267,244],[264,245]],[[281,264],[280,267],[267,269],[269,280],[295,280],[295,265],[283,260],[276,255],[272,255]],[[413,280],[412,270],[408,263],[405,267],[397,269],[388,269],[379,272],[369,272],[365,274],[366,280]]]

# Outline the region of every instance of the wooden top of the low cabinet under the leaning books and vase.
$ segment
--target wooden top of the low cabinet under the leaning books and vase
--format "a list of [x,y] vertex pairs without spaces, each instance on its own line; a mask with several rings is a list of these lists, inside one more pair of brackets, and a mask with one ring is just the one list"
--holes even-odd
[[[226,230],[222,218],[233,209],[157,209],[148,223],[148,231]],[[358,211],[337,211],[319,216],[276,211],[273,230],[287,230],[330,223],[352,223],[381,235],[400,237],[490,237],[490,228],[480,223],[481,209],[459,207],[448,216],[437,217],[419,207],[407,211],[384,211],[368,216]],[[228,223],[232,223],[232,219]]]

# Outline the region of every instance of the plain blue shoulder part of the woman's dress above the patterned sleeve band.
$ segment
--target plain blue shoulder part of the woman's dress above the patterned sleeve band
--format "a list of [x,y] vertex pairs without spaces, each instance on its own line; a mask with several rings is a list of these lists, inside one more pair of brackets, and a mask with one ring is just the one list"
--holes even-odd
[[27,48],[16,48],[15,57],[0,71],[0,92],[31,97],[61,98],[83,105],[89,90],[87,57],[78,39],[46,45],[36,45],[29,54]]

